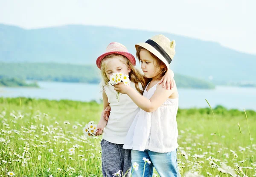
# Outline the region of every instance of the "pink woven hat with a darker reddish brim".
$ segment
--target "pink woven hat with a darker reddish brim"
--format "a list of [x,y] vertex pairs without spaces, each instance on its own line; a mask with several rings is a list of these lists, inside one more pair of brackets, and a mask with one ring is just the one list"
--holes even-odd
[[128,58],[128,60],[131,62],[132,65],[134,65],[134,66],[136,65],[136,60],[135,60],[134,56],[128,52],[127,48],[124,45],[122,45],[118,42],[111,42],[108,45],[105,53],[103,53],[101,56],[99,56],[96,60],[96,65],[99,67],[99,69],[101,67],[102,59],[104,59],[105,56],[108,56],[113,53],[125,56],[126,58]]

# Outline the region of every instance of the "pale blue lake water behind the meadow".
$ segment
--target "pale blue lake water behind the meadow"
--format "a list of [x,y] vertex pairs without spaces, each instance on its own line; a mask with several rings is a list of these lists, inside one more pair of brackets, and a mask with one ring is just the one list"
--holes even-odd
[[[99,101],[102,93],[98,84],[38,82],[40,88],[0,87],[0,97],[30,97],[50,100]],[[215,90],[179,89],[179,107],[212,107],[256,110],[256,88],[217,86]]]

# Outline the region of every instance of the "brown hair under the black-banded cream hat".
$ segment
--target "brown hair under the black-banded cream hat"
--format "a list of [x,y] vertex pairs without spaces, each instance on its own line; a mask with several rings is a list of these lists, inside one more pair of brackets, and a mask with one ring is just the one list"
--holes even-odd
[[[136,51],[136,56],[139,59],[139,61],[141,61],[140,59],[140,51],[142,50],[146,50],[147,49],[138,46],[137,51]],[[165,73],[167,72],[168,68],[167,66],[164,64],[164,62],[162,62],[162,60],[160,60],[157,56],[155,56],[153,53],[151,53],[150,51],[148,51],[150,53],[150,55],[154,58],[154,62],[157,63],[157,65],[154,65],[156,67],[156,73],[157,75],[160,74],[159,78],[163,77],[165,75]],[[165,66],[164,68],[161,68],[161,66]]]

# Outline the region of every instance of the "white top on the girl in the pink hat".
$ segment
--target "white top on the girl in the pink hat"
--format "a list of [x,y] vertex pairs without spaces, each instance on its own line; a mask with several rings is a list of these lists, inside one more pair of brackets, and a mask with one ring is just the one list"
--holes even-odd
[[[130,86],[136,90],[134,82],[131,82]],[[139,87],[143,90],[140,83]],[[111,143],[124,144],[127,132],[140,108],[126,94],[120,93],[118,102],[117,92],[113,86],[105,85],[104,89],[111,106],[111,113],[102,138]]]

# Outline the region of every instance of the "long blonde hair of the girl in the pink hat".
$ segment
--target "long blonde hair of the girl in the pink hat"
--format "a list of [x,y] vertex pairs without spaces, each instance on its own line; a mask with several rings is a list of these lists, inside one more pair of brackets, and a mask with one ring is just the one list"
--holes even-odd
[[[122,58],[120,58],[120,61],[122,63],[124,63],[127,67],[131,68],[131,72],[129,73],[130,80],[132,82],[134,82],[136,90],[138,92],[140,92],[140,94],[143,94],[143,91],[144,91],[144,89],[146,87],[146,84],[148,83],[147,79],[145,79],[145,77],[140,73],[140,71],[137,68],[135,68],[134,65],[131,64],[131,62],[130,62],[130,60],[128,60],[128,58],[126,58],[125,56],[120,55],[120,54],[116,54],[116,53],[110,54],[108,56],[105,56],[102,59],[102,62],[101,62],[101,75],[102,75],[102,79],[103,79],[104,84],[107,85],[108,81],[109,81],[108,76],[106,74],[106,65],[107,65],[106,61],[108,59],[111,59],[111,58],[114,58],[114,57],[117,57],[117,56],[122,56]],[[139,83],[142,85],[143,90],[140,90]]]

